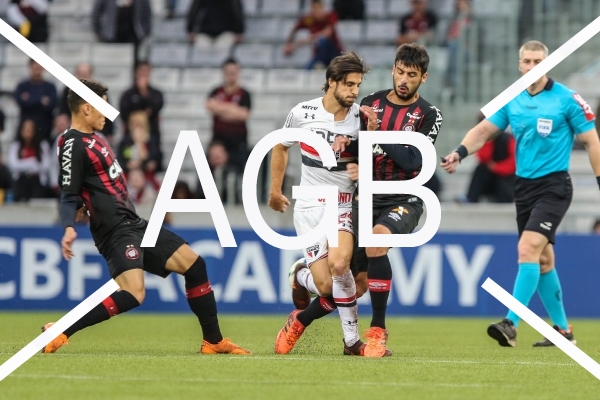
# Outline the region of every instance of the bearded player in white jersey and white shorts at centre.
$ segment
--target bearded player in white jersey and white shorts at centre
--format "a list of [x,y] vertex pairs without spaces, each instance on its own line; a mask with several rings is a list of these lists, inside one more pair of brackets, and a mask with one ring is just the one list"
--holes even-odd
[[[358,97],[363,75],[368,71],[364,61],[356,53],[336,57],[325,73],[325,96],[294,107],[284,128],[304,128],[307,136],[320,135],[331,145],[336,136],[340,135],[356,140],[360,130],[360,113],[359,106],[354,102]],[[288,151],[294,144],[278,144],[272,152],[269,206],[280,212],[284,212],[290,204],[282,194],[281,186]],[[312,321],[337,308],[344,330],[344,354],[361,355],[365,345],[358,335],[356,285],[350,271],[354,246],[352,195],[355,183],[346,171],[346,165],[355,161],[355,158],[345,151],[337,153],[337,166],[326,168],[311,146],[300,143],[300,151],[300,186],[334,185],[339,188],[338,247],[328,248],[327,239],[323,236],[318,242],[303,249],[306,264],[295,264],[292,286],[292,298],[297,309],[290,314],[277,335],[275,351],[279,354],[289,353]],[[298,235],[311,232],[321,221],[324,211],[325,199],[297,200],[294,206],[294,226]],[[309,291],[319,295],[312,302]]]

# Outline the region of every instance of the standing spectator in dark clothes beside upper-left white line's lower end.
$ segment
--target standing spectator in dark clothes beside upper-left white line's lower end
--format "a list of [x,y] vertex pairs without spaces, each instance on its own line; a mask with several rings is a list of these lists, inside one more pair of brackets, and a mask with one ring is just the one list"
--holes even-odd
[[150,64],[146,61],[142,61],[136,66],[135,82],[121,96],[119,110],[121,111],[121,118],[125,122],[125,135],[130,134],[127,123],[131,113],[134,111],[144,111],[146,113],[150,123],[150,141],[154,148],[159,149],[159,157],[156,160],[156,171],[162,171],[159,113],[163,107],[164,100],[162,92],[150,86],[151,72]]

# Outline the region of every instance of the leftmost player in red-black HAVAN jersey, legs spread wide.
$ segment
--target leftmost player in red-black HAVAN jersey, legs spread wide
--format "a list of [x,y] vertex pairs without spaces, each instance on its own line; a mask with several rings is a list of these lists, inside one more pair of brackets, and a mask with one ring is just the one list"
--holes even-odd
[[[106,101],[106,86],[81,82]],[[202,327],[202,353],[250,354],[221,335],[206,263],[184,239],[161,228],[155,247],[140,247],[148,221],[136,214],[123,170],[108,143],[97,133],[104,127],[104,115],[72,90],[67,102],[71,128],[58,141],[60,219],[65,228],[62,253],[66,260],[74,256],[75,219],[81,200],[90,217],[96,247],[120,290],[46,345],[43,352],[54,353],[75,332],[138,307],[144,300],[144,271],[147,271],[163,278],[171,272],[184,276],[188,304]],[[51,325],[46,324],[43,330]]]

